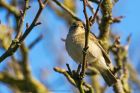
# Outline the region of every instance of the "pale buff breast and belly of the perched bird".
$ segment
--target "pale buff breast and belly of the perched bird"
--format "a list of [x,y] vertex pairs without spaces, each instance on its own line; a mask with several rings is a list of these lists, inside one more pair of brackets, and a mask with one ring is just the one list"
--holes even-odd
[[[85,35],[68,35],[66,39],[66,50],[68,54],[74,59],[77,63],[83,62],[83,48],[85,45]],[[98,45],[89,38],[88,43],[88,50],[87,50],[87,61],[89,63],[95,62],[99,60],[102,56],[102,52]]]

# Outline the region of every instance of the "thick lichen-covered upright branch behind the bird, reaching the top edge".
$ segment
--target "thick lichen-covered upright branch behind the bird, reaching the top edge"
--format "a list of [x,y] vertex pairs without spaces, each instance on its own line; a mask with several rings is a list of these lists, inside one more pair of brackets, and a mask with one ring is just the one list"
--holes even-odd
[[101,40],[101,45],[103,45],[104,49],[107,51],[109,44],[109,32],[110,32],[110,24],[112,23],[112,1],[104,0],[101,5],[102,19],[99,25],[100,34],[99,38]]

